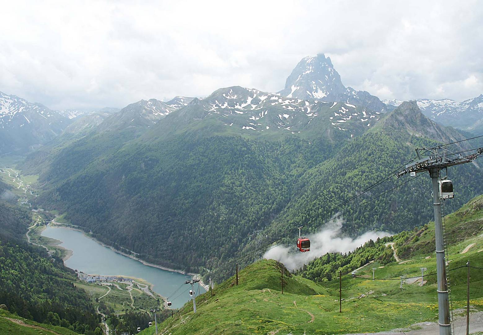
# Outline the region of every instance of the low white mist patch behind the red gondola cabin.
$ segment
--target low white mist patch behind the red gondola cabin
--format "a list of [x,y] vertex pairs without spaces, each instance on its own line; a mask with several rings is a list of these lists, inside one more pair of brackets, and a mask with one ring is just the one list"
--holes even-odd
[[268,250],[263,257],[282,262],[287,268],[295,270],[327,252],[345,253],[360,247],[370,239],[376,240],[378,237],[382,238],[391,235],[386,232],[371,231],[354,239],[351,237],[338,237],[341,234],[341,228],[344,222],[342,217],[336,218],[330,223],[327,223],[318,233],[307,235],[310,239],[309,252],[297,251],[296,240],[294,239],[292,247],[277,246]]

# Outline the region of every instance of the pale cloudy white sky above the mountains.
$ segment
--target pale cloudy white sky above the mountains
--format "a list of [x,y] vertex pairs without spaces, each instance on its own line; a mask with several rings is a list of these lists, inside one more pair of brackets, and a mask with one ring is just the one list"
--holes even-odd
[[483,93],[478,1],[0,0],[0,91],[52,109],[122,108],[239,85],[276,92],[324,53],[381,99]]

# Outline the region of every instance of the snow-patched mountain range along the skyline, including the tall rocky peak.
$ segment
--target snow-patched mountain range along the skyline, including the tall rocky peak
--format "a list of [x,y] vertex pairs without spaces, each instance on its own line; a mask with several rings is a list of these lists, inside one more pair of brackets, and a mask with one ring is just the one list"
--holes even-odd
[[[369,92],[345,87],[330,58],[323,54],[301,59],[284,89],[277,93],[226,87],[204,99],[182,96],[168,102],[150,99],[131,103],[120,111],[104,108],[85,112],[54,111],[0,92],[0,154],[32,151],[64,130],[71,134],[89,129],[127,130],[130,140],[174,111],[179,112],[173,117],[179,121],[165,129],[166,134],[187,131],[193,128],[188,123],[208,118],[214,122],[212,131],[217,133],[310,137],[321,131],[339,130],[346,131],[342,137],[352,138],[365,131],[361,127],[370,128],[381,114],[401,102],[381,101]],[[483,95],[464,102],[419,99],[417,104],[423,114],[443,125],[474,133],[483,131]]]

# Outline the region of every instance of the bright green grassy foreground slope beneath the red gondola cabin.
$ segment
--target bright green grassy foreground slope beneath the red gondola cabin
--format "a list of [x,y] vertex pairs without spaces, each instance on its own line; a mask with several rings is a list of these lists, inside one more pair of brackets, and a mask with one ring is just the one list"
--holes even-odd
[[[452,240],[448,250],[450,281],[452,283],[453,308],[466,306],[466,262],[471,268],[470,304],[472,311],[483,309],[483,196],[473,199],[460,210],[447,217],[447,229],[456,231],[458,227],[474,227],[476,232],[465,239]],[[432,223],[427,224],[431,227]],[[473,229],[473,228],[472,228]],[[434,228],[425,228],[428,240],[434,238]],[[467,232],[468,233],[468,232]],[[392,238],[397,246],[412,244],[419,230],[403,232]],[[450,236],[453,236],[450,234]],[[386,241],[378,241],[377,243]],[[376,243],[376,244],[377,244]],[[422,241],[420,244],[426,244]],[[469,244],[473,247],[462,253]],[[436,293],[436,261],[434,251],[427,258],[425,251],[415,248],[405,261],[396,262],[378,259],[379,251],[374,250],[374,242],[355,251],[370,262],[360,268],[357,277],[343,271],[337,260],[327,262],[332,267],[333,280],[315,283],[301,276],[289,274],[284,269],[284,294],[281,292],[280,263],[263,260],[251,264],[240,271],[239,285],[231,277],[210,292],[197,297],[197,313],[188,302],[175,314],[165,320],[158,329],[161,334],[347,334],[371,333],[408,327],[421,321],[434,321],[438,317]],[[388,247],[390,249],[390,247]],[[380,252],[384,253],[384,248]],[[399,251],[399,249],[398,249]],[[342,258],[350,257],[350,255]],[[391,256],[392,257],[392,256]],[[326,256],[321,259],[327,258]],[[365,261],[364,261],[365,262]],[[310,267],[317,262],[309,264]],[[462,268],[459,268],[463,266]],[[359,267],[359,266],[357,266]],[[396,280],[372,281],[372,268],[376,268],[376,278]],[[426,267],[425,284],[420,280],[407,280],[403,289],[399,287],[399,276],[419,277],[420,267]],[[339,313],[339,279],[342,272],[342,313]],[[418,278],[415,278],[418,279]],[[154,334],[154,327],[144,330],[141,335]]]

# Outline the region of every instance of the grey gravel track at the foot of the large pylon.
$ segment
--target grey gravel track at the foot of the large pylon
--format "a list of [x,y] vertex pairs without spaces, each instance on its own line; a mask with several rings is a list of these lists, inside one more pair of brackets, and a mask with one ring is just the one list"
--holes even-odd
[[[388,332],[370,333],[372,335],[435,335],[439,334],[438,322],[420,322],[414,324],[412,327],[421,327],[418,330],[408,329],[393,329]],[[411,327],[411,328],[412,328]],[[466,317],[458,317],[455,320],[455,334],[465,334],[466,331]],[[469,333],[483,331],[483,312],[471,313],[469,315]],[[366,335],[369,333],[357,333],[347,335]]]

